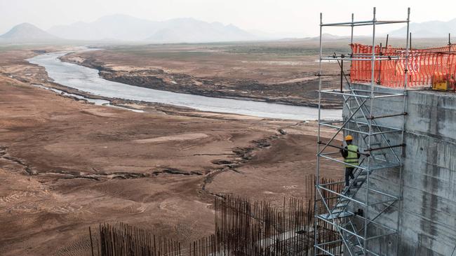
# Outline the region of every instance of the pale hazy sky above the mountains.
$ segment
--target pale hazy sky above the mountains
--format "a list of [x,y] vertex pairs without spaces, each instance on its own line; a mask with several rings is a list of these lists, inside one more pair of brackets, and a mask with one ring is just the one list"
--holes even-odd
[[[411,20],[448,21],[456,18],[455,0],[0,0],[0,34],[15,24],[29,22],[41,29],[56,24],[92,22],[98,17],[116,13],[148,20],[168,20],[175,17],[194,17],[207,22],[235,24],[242,29],[315,36],[318,34],[318,15],[323,22],[372,18],[377,6],[379,19],[405,19],[406,8],[412,8]],[[380,27],[380,33],[397,27]],[[370,31],[370,30],[369,30]],[[366,29],[356,34],[368,34]],[[346,29],[326,30],[331,34],[349,34]]]

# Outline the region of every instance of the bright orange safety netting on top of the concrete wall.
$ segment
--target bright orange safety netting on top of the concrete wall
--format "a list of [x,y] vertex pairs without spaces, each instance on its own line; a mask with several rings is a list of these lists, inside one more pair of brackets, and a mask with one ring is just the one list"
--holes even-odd
[[[371,59],[372,45],[351,45],[353,58]],[[375,46],[376,60],[374,66],[375,83],[387,87],[403,87],[405,70],[408,70],[408,87],[431,85],[433,76],[445,76],[448,80],[456,78],[456,45],[441,48],[409,50],[408,66],[404,48],[392,48],[390,45],[380,48]],[[388,59],[391,57],[391,59]],[[394,57],[398,57],[394,59]],[[386,58],[386,59],[385,59]],[[350,78],[352,83],[370,83],[372,79],[372,62],[353,60]]]

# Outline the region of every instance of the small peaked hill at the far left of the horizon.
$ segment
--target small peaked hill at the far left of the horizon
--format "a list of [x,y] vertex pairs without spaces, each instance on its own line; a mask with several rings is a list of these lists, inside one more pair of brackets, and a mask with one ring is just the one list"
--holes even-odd
[[46,43],[53,41],[61,41],[61,39],[29,23],[18,24],[0,36],[1,43]]

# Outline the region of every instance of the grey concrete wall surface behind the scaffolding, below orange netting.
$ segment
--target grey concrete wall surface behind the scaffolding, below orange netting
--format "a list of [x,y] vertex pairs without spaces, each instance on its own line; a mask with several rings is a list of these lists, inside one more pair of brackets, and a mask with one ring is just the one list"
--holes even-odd
[[[355,86],[363,90],[370,88]],[[384,87],[376,90],[401,92]],[[369,184],[403,199],[377,218],[387,227],[398,228],[398,239],[394,236],[373,239],[368,246],[382,255],[450,256],[456,246],[456,94],[422,90],[410,90],[407,94],[402,177],[398,168],[384,169],[375,171]],[[374,116],[402,111],[402,97],[376,100],[373,106]],[[347,108],[343,115],[346,119]],[[403,117],[377,122],[401,127]],[[401,134],[389,134],[387,140],[391,145],[400,144]],[[355,136],[356,144],[365,150],[362,141]],[[401,148],[395,152],[401,155]],[[392,152],[387,152],[387,159],[394,159]],[[370,195],[371,200],[381,199],[373,193]],[[356,197],[366,199],[366,190],[359,190]],[[361,206],[352,206],[351,210],[356,208]],[[372,207],[369,216],[372,218],[380,211],[381,206]],[[381,232],[375,226],[368,230],[370,235]]]

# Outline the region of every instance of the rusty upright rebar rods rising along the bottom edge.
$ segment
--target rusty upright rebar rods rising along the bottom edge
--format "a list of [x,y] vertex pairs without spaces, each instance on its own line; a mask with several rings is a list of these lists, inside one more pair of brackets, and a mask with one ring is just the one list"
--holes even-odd
[[[342,191],[343,184],[321,178],[320,183],[332,190]],[[314,255],[314,206],[323,209],[322,201],[314,201],[316,178],[304,177],[306,197],[283,199],[277,206],[269,201],[250,201],[226,194],[216,197],[215,232],[189,243],[182,249],[181,242],[155,236],[145,229],[124,223],[100,224],[94,246],[97,256],[310,256]],[[326,196],[329,197],[329,192]],[[315,204],[315,205],[314,205]],[[326,199],[334,206],[337,198]],[[338,234],[333,225],[316,220],[318,239],[321,243],[334,241]],[[90,241],[97,236],[89,229]],[[342,254],[342,243],[327,243],[324,250],[333,255]]]

